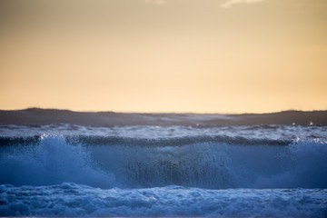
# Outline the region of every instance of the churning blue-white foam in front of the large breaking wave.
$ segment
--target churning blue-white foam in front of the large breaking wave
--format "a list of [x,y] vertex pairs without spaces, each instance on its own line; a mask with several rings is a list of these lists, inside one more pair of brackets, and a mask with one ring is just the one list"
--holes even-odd
[[325,217],[327,190],[206,190],[181,186],[102,190],[75,183],[0,185],[5,216]]

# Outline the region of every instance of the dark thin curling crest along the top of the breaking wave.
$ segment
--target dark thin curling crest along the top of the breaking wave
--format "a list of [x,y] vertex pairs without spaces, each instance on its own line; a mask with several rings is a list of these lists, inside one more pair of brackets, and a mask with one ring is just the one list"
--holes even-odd
[[[49,134],[52,135],[52,134]],[[0,146],[39,144],[45,135],[25,137],[0,137]],[[64,137],[61,135],[61,137]],[[123,136],[74,135],[65,136],[67,144],[132,145],[132,146],[183,146],[187,144],[238,144],[238,145],[288,145],[292,140],[247,138],[227,135],[192,135],[183,137],[139,138]]]

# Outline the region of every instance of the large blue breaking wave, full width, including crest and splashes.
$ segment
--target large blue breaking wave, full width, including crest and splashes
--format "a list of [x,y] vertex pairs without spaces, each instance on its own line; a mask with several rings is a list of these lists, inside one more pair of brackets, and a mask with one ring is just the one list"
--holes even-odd
[[327,144],[224,135],[1,138],[0,183],[101,188],[327,188]]

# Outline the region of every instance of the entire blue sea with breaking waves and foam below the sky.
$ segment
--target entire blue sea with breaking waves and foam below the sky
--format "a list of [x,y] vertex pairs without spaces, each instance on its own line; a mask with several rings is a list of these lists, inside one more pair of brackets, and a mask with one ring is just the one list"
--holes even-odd
[[290,114],[13,115],[0,121],[0,216],[327,217],[327,126]]

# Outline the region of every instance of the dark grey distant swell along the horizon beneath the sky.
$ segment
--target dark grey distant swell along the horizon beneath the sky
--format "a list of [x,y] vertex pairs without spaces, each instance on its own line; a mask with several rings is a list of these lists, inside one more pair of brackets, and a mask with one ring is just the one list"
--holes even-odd
[[327,111],[285,111],[272,114],[137,114],[113,112],[73,112],[30,108],[0,111],[0,125],[78,124],[91,126],[126,125],[327,125]]

